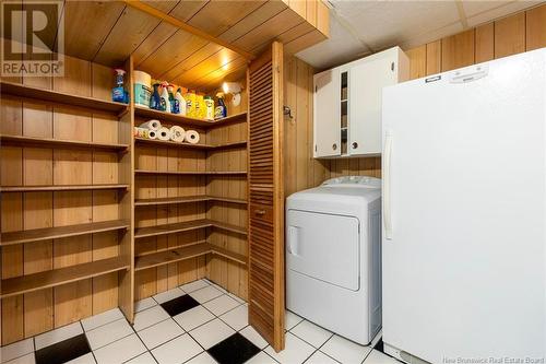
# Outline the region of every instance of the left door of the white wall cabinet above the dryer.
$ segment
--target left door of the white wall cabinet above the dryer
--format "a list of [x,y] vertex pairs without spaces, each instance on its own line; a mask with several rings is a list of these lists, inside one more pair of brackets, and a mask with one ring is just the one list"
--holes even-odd
[[341,155],[340,94],[337,69],[314,75],[314,157]]

